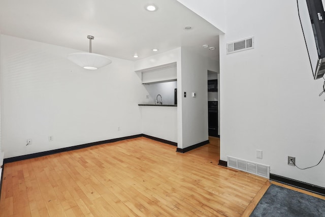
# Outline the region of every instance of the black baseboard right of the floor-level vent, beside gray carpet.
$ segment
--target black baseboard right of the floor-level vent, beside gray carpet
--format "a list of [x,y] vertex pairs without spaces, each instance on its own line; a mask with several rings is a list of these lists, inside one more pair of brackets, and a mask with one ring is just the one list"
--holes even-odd
[[298,181],[295,179],[283,177],[283,176],[272,174],[272,173],[270,174],[270,179],[273,181],[277,181],[277,182],[280,182],[283,184],[290,185],[292,187],[296,187],[299,189],[303,189],[303,190],[306,190],[309,192],[313,192],[313,193],[325,196],[325,188],[319,187],[317,185],[309,184],[306,182]]

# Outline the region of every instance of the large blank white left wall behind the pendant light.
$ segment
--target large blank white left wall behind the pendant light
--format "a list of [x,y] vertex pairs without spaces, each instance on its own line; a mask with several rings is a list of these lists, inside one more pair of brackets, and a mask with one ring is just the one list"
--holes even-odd
[[67,59],[73,49],[6,35],[1,42],[5,158],[141,134],[146,91],[132,61],[112,57],[91,71]]

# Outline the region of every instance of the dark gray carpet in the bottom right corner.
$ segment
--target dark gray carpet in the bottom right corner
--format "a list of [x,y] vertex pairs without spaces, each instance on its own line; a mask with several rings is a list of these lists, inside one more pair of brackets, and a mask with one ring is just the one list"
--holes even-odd
[[325,216],[325,200],[271,184],[250,216]]

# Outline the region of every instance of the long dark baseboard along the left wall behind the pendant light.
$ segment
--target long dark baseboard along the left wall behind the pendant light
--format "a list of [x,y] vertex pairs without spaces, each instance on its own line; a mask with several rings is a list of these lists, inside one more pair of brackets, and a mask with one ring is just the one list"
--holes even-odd
[[91,147],[91,146],[94,146],[94,145],[101,145],[101,144],[117,142],[117,141],[121,141],[121,140],[125,140],[125,139],[138,138],[138,137],[142,137],[142,136],[143,136],[143,134],[138,134],[138,135],[133,135],[133,136],[126,136],[126,137],[121,137],[121,138],[108,139],[108,140],[103,140],[103,141],[98,141],[98,142],[91,142],[91,143],[82,144],[82,145],[70,146],[70,147],[66,147],[66,148],[59,148],[59,149],[54,149],[54,150],[42,151],[42,152],[38,152],[38,153],[26,154],[26,155],[23,155],[23,156],[6,158],[6,159],[4,159],[4,164],[11,163],[11,162],[16,162],[16,161],[27,160],[27,159],[32,159],[32,158],[39,158],[39,157],[47,156],[47,155],[54,154],[54,153],[61,153],[61,152],[64,152],[64,151],[71,151],[71,150],[77,150],[77,149],[81,149],[81,148],[87,148],[87,147]]

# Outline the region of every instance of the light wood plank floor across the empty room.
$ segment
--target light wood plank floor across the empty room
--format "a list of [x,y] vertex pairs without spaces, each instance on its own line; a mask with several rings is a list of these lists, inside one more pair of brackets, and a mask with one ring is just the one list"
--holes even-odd
[[140,137],[5,164],[0,216],[248,216],[269,180],[218,166],[209,139],[186,153]]

